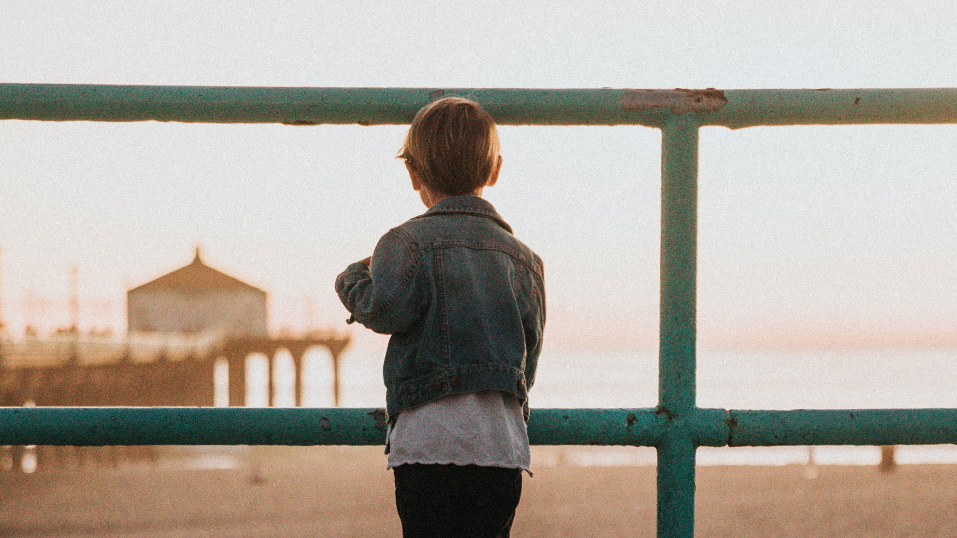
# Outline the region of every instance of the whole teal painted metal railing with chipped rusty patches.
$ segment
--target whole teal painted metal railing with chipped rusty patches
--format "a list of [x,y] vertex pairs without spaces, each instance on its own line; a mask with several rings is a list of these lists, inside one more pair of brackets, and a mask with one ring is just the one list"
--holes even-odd
[[[658,406],[536,409],[533,444],[657,447],[657,535],[694,536],[699,446],[957,444],[957,410],[735,411],[695,404],[702,125],[957,123],[957,88],[630,90],[0,84],[0,119],[402,124],[441,95],[501,124],[640,124],[662,132]],[[0,444],[382,444],[374,409],[2,408]]]

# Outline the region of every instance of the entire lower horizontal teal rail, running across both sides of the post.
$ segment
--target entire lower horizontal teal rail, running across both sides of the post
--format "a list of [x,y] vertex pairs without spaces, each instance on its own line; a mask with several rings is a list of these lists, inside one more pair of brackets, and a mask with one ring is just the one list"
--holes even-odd
[[[657,446],[669,429],[704,446],[957,444],[957,409],[747,411],[533,409],[540,445]],[[8,407],[0,445],[376,445],[385,414],[372,408]]]

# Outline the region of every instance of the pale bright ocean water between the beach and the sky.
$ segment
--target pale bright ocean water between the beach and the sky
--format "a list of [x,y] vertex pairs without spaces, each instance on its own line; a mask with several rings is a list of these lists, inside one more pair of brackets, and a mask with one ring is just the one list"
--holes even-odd
[[[381,407],[382,351],[345,352],[341,397],[345,407]],[[252,365],[251,365],[252,366]],[[279,376],[282,375],[279,364]],[[254,369],[255,370],[255,369]],[[252,392],[264,384],[251,378]],[[278,400],[283,394],[278,380]],[[306,357],[304,403],[332,405],[331,367],[323,350]],[[250,394],[256,401],[256,396]],[[536,407],[654,407],[657,351],[559,351],[542,353]],[[865,409],[957,407],[957,349],[701,350],[698,405],[725,409]],[[818,446],[817,464],[877,464],[879,448]],[[808,447],[702,447],[701,465],[807,463]],[[533,464],[559,460],[579,465],[653,465],[646,447],[535,447]],[[957,446],[901,446],[899,463],[957,463]]]

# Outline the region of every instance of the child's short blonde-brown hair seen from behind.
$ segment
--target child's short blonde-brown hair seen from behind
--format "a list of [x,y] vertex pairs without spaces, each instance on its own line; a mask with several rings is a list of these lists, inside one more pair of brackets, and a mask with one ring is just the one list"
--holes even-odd
[[484,187],[499,157],[499,130],[479,103],[447,97],[422,107],[398,158],[432,191],[458,196]]

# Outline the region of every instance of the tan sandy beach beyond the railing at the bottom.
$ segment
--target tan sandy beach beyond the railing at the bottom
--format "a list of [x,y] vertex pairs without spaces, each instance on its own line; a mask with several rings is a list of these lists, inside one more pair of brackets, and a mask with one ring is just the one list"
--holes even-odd
[[[399,536],[378,447],[253,449],[251,467],[0,474],[0,536]],[[957,465],[705,466],[698,535],[957,536]],[[655,535],[655,468],[540,466],[516,537]]]

